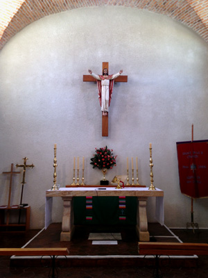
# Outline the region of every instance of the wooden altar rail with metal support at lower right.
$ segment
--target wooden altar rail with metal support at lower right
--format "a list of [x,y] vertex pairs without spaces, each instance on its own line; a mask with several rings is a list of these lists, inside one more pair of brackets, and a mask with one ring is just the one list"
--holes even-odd
[[138,252],[140,255],[155,256],[155,277],[159,274],[159,256],[193,256],[208,255],[207,243],[146,243],[139,242]]

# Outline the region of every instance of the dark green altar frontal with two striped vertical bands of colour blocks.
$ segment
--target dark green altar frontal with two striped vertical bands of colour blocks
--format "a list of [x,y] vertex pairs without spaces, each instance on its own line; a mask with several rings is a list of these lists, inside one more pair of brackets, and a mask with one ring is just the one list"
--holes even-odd
[[137,224],[137,197],[74,197],[74,224]]

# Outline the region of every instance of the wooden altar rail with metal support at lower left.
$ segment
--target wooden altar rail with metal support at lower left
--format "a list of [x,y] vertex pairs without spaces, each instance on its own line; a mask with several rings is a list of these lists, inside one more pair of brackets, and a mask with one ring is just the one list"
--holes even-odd
[[67,248],[0,248],[0,256],[51,256],[52,275],[55,277],[55,258],[56,256],[67,256]]

